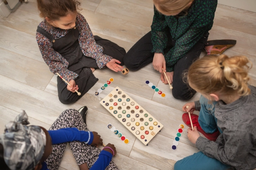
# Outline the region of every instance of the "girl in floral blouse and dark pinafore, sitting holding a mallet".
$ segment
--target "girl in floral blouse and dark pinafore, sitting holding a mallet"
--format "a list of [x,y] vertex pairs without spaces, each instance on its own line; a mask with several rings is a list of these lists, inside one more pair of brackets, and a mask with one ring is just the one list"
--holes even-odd
[[[37,0],[44,20],[36,30],[39,49],[52,73],[59,73],[70,86],[57,77],[59,100],[71,104],[80,99],[98,81],[95,68],[123,68],[125,49],[114,42],[93,36],[76,0]],[[75,90],[81,92],[78,96]]]

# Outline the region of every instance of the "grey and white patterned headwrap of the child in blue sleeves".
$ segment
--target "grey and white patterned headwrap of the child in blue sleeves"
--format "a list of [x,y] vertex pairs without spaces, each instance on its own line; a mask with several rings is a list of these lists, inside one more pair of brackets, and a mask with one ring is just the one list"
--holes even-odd
[[0,135],[3,158],[11,170],[33,170],[43,156],[46,136],[39,126],[26,126],[28,116],[24,110],[13,122],[5,125]]

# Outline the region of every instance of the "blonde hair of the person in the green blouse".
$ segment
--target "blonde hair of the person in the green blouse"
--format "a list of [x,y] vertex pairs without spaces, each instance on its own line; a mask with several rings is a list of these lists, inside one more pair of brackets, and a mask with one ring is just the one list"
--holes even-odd
[[173,15],[190,7],[189,3],[193,0],[153,0],[159,12],[164,15]]

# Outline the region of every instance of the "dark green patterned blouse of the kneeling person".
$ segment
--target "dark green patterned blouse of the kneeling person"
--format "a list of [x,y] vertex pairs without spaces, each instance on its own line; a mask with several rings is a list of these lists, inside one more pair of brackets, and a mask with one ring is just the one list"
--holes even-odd
[[164,54],[169,28],[171,37],[176,40],[175,46],[164,54],[166,71],[173,71],[175,63],[211,29],[216,7],[217,0],[194,0],[188,14],[182,17],[160,14],[154,7],[151,52]]

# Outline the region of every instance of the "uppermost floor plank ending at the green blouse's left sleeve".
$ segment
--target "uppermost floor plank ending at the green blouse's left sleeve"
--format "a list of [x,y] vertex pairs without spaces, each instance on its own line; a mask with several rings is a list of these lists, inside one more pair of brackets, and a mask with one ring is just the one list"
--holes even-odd
[[151,26],[154,16],[152,8],[120,0],[102,0],[95,12],[147,27]]

